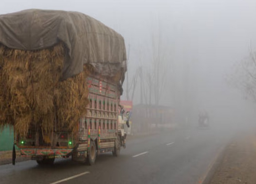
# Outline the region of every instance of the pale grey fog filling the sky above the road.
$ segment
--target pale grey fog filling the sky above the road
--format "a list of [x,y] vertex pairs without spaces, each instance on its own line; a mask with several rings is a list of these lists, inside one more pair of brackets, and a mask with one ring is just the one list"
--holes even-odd
[[[187,117],[197,125],[199,111],[207,110],[213,124],[241,128],[255,124],[256,106],[225,77],[249,55],[250,43],[256,48],[255,7],[254,0],[9,0],[0,14],[37,8],[90,15],[124,37],[130,82],[142,66],[146,83],[159,56],[155,61],[163,63],[159,73],[165,76],[158,81],[164,84],[158,105],[174,108],[175,121]],[[127,98],[126,82],[122,99]],[[140,90],[138,78],[135,105],[142,102]],[[149,90],[144,87],[143,103],[149,103]]]

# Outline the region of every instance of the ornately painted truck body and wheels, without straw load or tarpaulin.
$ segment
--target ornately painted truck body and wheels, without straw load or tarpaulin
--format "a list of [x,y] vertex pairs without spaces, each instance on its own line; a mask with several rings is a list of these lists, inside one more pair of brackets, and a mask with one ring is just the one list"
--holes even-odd
[[[120,92],[117,85],[98,76],[87,77],[89,88],[87,114],[78,123],[78,134],[73,136],[66,129],[52,132],[50,145],[42,139],[35,128],[30,128],[27,137],[16,135],[16,145],[21,156],[31,156],[39,165],[53,164],[55,158],[68,158],[93,165],[100,153],[120,154],[125,148],[125,137],[118,129],[123,119]],[[121,142],[122,141],[122,142]]]

